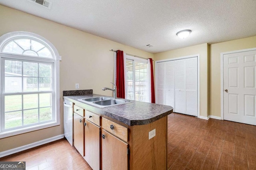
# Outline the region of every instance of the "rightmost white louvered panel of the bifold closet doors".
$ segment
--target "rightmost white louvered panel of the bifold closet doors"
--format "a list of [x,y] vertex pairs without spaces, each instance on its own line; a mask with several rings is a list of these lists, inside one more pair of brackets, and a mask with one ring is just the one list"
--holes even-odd
[[197,116],[197,57],[185,59],[186,111]]

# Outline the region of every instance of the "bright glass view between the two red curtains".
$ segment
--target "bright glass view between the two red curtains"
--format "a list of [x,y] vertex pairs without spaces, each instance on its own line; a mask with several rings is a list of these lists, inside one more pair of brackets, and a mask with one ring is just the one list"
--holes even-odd
[[128,99],[146,101],[147,63],[126,59]]

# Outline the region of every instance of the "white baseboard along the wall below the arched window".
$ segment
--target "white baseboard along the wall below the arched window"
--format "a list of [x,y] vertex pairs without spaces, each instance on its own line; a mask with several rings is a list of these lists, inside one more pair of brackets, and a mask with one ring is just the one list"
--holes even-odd
[[34,142],[34,143],[30,143],[30,144],[24,145],[22,147],[17,147],[17,148],[10,149],[10,150],[5,150],[3,152],[0,152],[0,158],[2,158],[4,156],[8,156],[10,154],[21,152],[23,150],[27,150],[27,149],[30,149],[30,148],[38,147],[38,146],[44,145],[46,143],[57,141],[57,140],[62,139],[62,138],[64,138],[64,134],[58,135],[58,136],[55,136],[55,137],[50,137],[50,138],[44,139],[42,141],[37,141],[37,142]]

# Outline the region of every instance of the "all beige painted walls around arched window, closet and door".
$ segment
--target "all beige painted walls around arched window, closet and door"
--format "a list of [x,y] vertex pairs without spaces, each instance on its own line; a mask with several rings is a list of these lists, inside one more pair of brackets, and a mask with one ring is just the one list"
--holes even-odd
[[63,134],[62,91],[93,89],[95,94],[112,95],[102,91],[113,81],[113,52],[153,58],[154,61],[200,55],[200,115],[220,117],[220,53],[256,47],[256,36],[224,43],[207,43],[158,54],[147,53],[115,43],[64,25],[44,20],[17,10],[0,6],[0,36],[11,31],[30,31],[48,39],[62,56],[60,62],[61,125],[39,131],[0,139],[0,152]]

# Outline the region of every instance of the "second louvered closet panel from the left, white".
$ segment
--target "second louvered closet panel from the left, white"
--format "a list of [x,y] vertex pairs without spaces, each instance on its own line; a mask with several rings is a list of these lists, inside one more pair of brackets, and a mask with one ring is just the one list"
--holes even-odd
[[165,93],[166,105],[174,107],[174,61],[165,62]]

